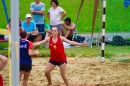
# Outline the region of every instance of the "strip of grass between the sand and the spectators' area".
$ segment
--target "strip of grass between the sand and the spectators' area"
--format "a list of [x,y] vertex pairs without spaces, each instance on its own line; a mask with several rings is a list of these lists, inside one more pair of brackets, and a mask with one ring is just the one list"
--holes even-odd
[[[1,43],[0,48],[7,48],[7,42]],[[49,57],[49,48],[39,48],[40,57]],[[99,53],[98,53],[99,52]],[[128,46],[105,46],[105,58],[107,59],[120,59],[121,61],[127,60],[130,56],[130,49]],[[67,57],[98,57],[101,56],[101,49],[99,50],[97,46],[90,47],[72,47],[66,48],[65,53]],[[0,50],[0,54],[8,55],[7,50]],[[127,60],[128,61],[128,60]]]

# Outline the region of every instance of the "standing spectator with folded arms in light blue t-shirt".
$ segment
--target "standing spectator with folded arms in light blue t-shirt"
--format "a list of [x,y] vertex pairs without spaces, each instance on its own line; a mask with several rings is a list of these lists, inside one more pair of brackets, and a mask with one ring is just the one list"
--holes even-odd
[[35,0],[35,2],[31,3],[30,12],[39,31],[39,41],[42,40],[42,33],[44,32],[44,11],[45,4],[40,2],[40,0]]

